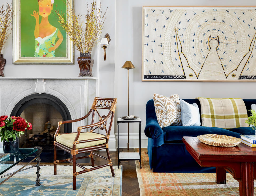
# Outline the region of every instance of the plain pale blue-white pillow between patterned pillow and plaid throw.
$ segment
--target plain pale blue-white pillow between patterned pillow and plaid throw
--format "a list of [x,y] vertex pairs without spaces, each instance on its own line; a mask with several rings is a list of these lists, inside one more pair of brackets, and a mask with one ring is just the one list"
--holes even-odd
[[182,126],[200,126],[200,113],[196,103],[189,104],[181,99]]

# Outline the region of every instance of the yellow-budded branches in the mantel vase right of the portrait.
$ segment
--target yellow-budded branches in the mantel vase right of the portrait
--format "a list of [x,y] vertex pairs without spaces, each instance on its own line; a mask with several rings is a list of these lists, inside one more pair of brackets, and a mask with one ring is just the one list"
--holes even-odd
[[101,4],[99,9],[96,8],[96,1],[91,3],[91,9],[88,8],[87,3],[87,14],[85,14],[85,27],[83,26],[84,21],[81,19],[81,13],[75,14],[75,10],[72,9],[69,1],[67,5],[67,14],[65,20],[65,14],[55,10],[56,16],[61,27],[67,32],[70,40],[73,41],[74,45],[81,53],[87,53],[92,51],[94,45],[98,42],[97,39],[100,37],[103,24],[105,22],[105,13],[101,10]]

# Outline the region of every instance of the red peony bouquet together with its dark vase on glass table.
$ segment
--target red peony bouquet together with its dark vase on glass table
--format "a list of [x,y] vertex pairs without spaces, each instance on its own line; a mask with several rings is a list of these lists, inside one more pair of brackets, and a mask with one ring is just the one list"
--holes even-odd
[[31,130],[32,124],[20,116],[0,116],[0,137],[5,153],[16,153],[19,150],[19,137],[25,130]]

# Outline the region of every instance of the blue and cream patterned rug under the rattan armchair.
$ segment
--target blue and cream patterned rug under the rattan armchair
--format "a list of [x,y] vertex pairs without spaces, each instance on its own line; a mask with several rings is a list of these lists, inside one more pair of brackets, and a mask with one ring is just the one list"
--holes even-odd
[[[7,173],[16,171],[14,166]],[[90,168],[89,166],[88,168]],[[77,167],[77,171],[81,171]],[[41,166],[41,185],[35,186],[36,168],[15,174],[0,186],[0,195],[4,196],[108,196],[122,195],[122,166],[114,166],[115,178],[109,167],[93,170],[77,176],[77,190],[73,190],[72,166],[57,166],[57,175],[53,175],[53,166]],[[2,181],[5,178],[0,178]]]

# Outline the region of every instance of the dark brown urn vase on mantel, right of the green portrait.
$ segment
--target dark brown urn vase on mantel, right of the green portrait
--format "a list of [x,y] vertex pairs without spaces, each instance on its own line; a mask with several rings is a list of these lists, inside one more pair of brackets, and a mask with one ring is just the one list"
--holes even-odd
[[79,76],[93,76],[91,70],[93,68],[94,60],[91,58],[91,53],[80,53],[80,57],[77,58],[80,68]]

